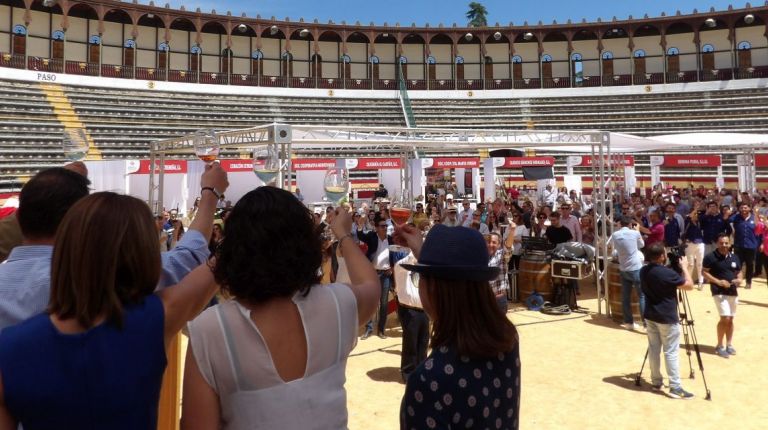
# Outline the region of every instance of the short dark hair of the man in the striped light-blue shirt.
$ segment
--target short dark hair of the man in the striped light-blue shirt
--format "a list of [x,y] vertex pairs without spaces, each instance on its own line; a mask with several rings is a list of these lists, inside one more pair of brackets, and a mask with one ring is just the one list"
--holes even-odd
[[91,181],[63,167],[46,169],[36,174],[21,189],[19,220],[21,233],[28,239],[49,239],[69,208],[88,195]]

